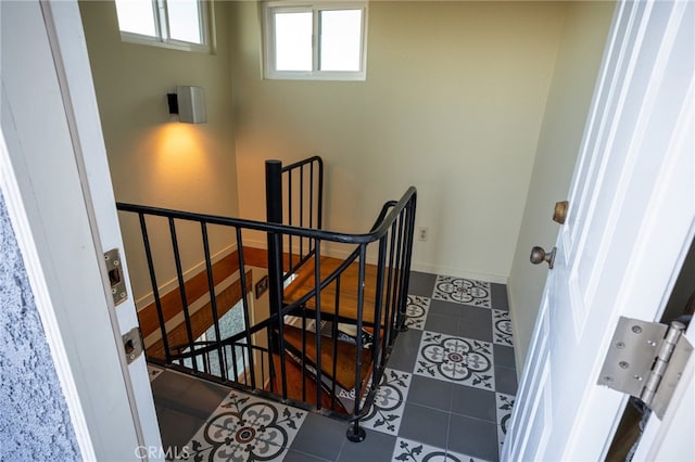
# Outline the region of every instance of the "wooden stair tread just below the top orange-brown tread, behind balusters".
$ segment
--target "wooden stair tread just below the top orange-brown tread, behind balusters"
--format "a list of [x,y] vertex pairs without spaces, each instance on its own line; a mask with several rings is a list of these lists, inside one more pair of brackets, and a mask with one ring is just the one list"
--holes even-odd
[[[302,330],[292,328],[290,325],[285,326],[285,341],[293,346],[298,351],[302,351]],[[314,363],[316,363],[316,334],[313,332],[305,333],[306,341],[306,357]],[[353,344],[338,341],[338,362],[336,364],[336,383],[341,387],[350,390],[355,388],[355,372],[356,372],[356,355],[357,347]],[[328,376],[333,376],[333,339],[330,337],[321,337],[321,372]],[[363,349],[362,352],[362,368],[359,377],[363,384],[371,372],[371,350]]]

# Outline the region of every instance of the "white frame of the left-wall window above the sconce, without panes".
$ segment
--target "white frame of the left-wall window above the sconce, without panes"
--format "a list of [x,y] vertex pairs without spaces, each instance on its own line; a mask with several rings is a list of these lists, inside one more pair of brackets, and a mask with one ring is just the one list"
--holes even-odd
[[201,33],[202,43],[177,40],[169,37],[168,0],[151,0],[156,36],[121,30],[121,23],[118,22],[121,40],[129,43],[149,44],[181,51],[212,52],[213,34],[211,34],[211,24],[213,24],[214,5],[213,2],[207,0],[195,0],[195,2],[198,3],[198,27]]

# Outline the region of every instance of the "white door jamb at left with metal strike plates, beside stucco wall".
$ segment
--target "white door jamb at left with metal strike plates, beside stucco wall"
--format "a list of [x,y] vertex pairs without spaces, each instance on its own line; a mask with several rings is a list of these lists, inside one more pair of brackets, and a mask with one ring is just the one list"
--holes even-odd
[[114,306],[103,262],[123,243],[77,2],[0,13],[0,185],[83,457],[162,458],[144,356],[128,365],[121,338],[135,303]]

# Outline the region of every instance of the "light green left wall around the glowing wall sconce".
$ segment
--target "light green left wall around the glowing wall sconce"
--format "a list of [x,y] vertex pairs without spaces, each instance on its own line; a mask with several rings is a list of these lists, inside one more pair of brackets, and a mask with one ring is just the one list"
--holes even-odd
[[[80,2],[114,193],[119,202],[238,216],[230,51],[230,3],[215,5],[214,53],[123,42],[113,1]],[[205,89],[207,124],[173,121],[166,93],[177,85]],[[121,214],[136,298],[150,291],[137,220]],[[156,228],[156,227],[153,227]],[[197,228],[197,229],[193,229]],[[202,260],[200,227],[181,227],[184,268]],[[166,232],[165,229],[161,229]],[[190,231],[190,232],[189,232]],[[155,252],[170,252],[153,229]],[[190,242],[191,245],[186,246]],[[213,235],[213,253],[229,245]],[[128,252],[131,249],[132,252]],[[175,277],[173,266],[160,283]]]

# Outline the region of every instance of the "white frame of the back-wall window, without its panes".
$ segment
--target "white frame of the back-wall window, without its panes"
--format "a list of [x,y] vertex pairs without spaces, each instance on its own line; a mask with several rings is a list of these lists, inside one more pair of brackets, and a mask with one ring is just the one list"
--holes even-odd
[[[269,80],[353,80],[367,79],[367,0],[348,1],[267,1],[263,3],[263,76]],[[362,30],[359,47],[359,70],[320,70],[321,11],[361,10]],[[275,68],[275,13],[312,12],[312,70],[278,70]]]

